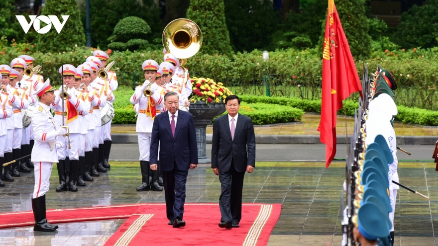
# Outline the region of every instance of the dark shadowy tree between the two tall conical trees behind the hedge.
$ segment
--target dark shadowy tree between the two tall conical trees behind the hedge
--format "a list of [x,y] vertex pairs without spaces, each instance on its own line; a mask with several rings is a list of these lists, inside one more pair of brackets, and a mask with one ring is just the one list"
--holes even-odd
[[263,49],[280,23],[271,0],[223,0],[225,21],[235,51]]

